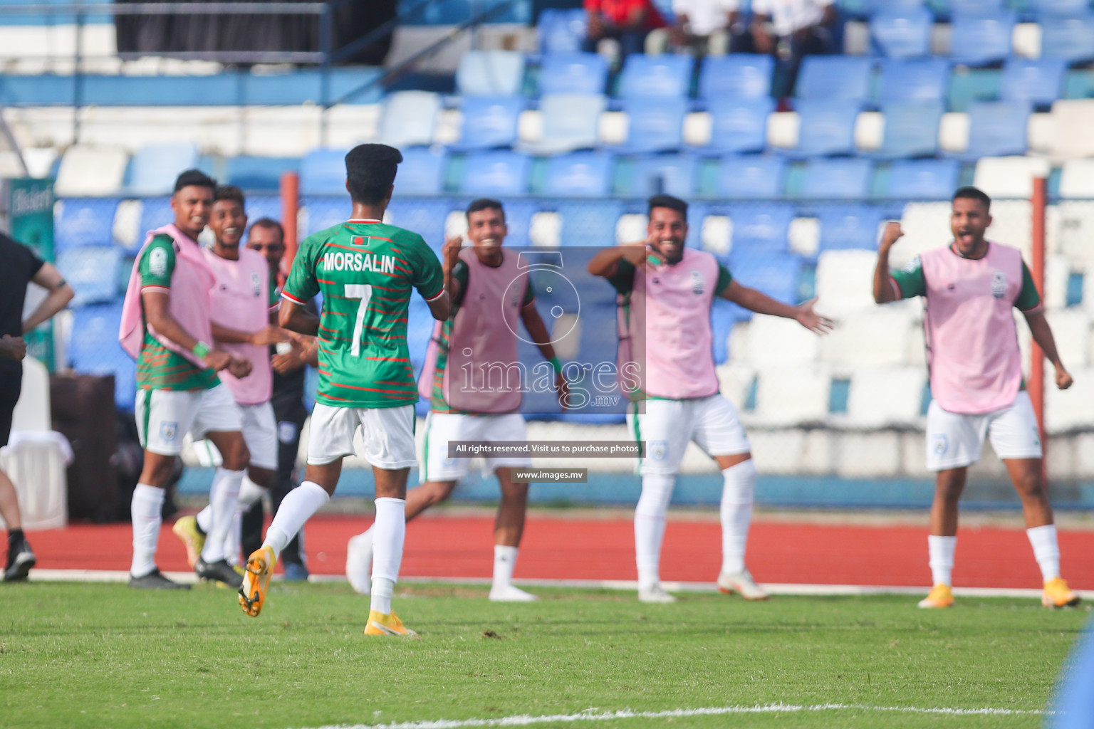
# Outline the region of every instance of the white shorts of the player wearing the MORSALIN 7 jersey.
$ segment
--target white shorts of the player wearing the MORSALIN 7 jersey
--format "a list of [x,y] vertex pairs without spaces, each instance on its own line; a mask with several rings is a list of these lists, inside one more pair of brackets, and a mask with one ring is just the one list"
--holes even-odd
[[335,408],[316,402],[307,435],[307,462],[325,466],[344,456],[352,456],[353,436],[360,427],[364,460],[392,471],[410,468],[418,462],[414,422],[414,405]]

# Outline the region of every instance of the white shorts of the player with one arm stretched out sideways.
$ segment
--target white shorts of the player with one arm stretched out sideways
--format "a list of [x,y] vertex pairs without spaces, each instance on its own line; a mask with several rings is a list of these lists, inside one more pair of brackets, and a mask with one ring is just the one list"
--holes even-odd
[[720,393],[691,400],[645,400],[645,413],[628,413],[627,426],[636,440],[645,440],[645,457],[639,459],[642,475],[675,475],[689,442],[711,457],[752,450],[737,409]]

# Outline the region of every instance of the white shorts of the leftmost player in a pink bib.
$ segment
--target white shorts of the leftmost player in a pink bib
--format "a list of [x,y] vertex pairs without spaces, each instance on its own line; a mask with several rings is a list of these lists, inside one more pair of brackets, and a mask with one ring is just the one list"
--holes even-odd
[[240,431],[243,419],[224,385],[208,390],[137,390],[137,432],[146,450],[161,456],[183,452],[183,436]]

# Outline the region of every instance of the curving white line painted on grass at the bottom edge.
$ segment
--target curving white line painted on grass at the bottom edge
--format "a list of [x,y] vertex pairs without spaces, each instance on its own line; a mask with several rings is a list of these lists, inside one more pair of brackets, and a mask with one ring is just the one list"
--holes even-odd
[[726,716],[730,714],[776,714],[794,712],[893,712],[898,714],[946,714],[950,716],[1015,716],[1044,715],[1051,712],[1041,709],[1019,708],[920,708],[917,706],[870,706],[866,704],[816,704],[800,706],[795,704],[765,704],[760,706],[712,706],[705,708],[677,708],[665,712],[618,712],[597,713],[586,709],[577,714],[545,714],[542,716],[498,717],[494,719],[432,719],[424,721],[398,721],[394,724],[338,724],[326,725],[318,729],[459,729],[459,727],[525,727],[532,724],[573,722],[573,721],[608,721],[612,719],[668,719],[690,716]]

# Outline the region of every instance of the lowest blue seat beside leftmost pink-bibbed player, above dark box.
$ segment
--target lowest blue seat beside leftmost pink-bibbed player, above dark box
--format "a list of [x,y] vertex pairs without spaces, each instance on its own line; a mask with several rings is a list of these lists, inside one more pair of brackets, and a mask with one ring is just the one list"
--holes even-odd
[[137,398],[137,364],[118,343],[121,303],[93,304],[72,313],[72,332],[67,353],[69,364],[88,375],[114,375],[114,401],[119,410],[132,411]]

